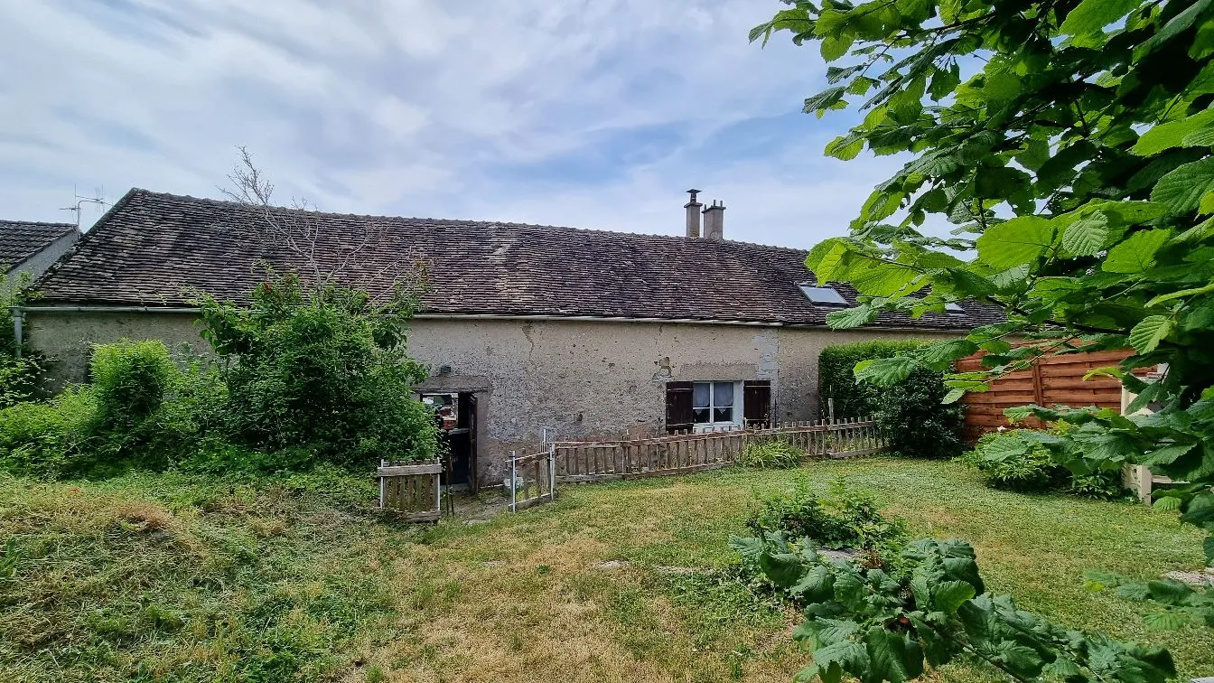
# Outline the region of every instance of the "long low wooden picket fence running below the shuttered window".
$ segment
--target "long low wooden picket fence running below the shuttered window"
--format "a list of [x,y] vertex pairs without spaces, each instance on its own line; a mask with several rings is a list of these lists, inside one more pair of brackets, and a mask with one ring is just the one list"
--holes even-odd
[[618,441],[557,441],[551,445],[554,482],[603,481],[716,469],[733,464],[747,445],[765,441],[785,441],[810,457],[822,458],[867,456],[889,448],[877,422],[870,417]]

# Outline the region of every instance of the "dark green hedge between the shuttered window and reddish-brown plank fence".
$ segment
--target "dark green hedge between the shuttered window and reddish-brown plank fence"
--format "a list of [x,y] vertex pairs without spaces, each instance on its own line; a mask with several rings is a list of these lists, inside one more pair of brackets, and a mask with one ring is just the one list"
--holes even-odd
[[890,447],[903,456],[951,458],[961,452],[964,407],[944,403],[948,388],[943,373],[909,371],[901,382],[877,386],[857,382],[863,361],[908,354],[923,342],[861,342],[827,346],[818,356],[821,395],[834,397],[835,416],[874,416]]

